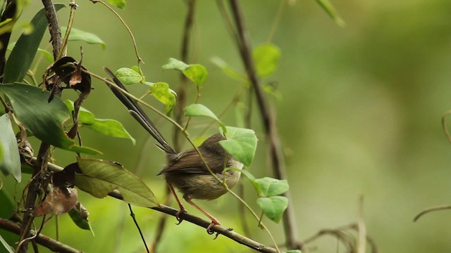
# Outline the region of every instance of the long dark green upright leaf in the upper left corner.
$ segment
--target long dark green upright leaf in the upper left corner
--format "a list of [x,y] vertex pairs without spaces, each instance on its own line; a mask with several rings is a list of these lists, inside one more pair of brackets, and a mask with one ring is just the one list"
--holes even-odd
[[[55,4],[56,11],[65,7],[63,4]],[[34,30],[31,34],[22,34],[13,51],[6,61],[4,72],[4,84],[12,84],[13,82],[22,82],[31,66],[42,36],[47,30],[47,17],[45,9],[38,11],[31,20]]]

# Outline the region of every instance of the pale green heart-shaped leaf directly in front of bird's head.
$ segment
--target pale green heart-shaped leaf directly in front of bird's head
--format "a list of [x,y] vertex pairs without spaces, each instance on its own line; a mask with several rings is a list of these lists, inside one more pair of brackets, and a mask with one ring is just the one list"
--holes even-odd
[[257,136],[254,130],[232,126],[226,126],[226,129],[227,140],[220,141],[219,144],[236,160],[249,167],[257,149]]

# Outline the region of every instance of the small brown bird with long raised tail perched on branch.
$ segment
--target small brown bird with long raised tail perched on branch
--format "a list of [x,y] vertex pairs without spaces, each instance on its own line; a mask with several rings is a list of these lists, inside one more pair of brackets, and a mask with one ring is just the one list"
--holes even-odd
[[[125,86],[114,76],[111,70],[105,68],[105,71],[110,75],[116,85],[127,91]],[[234,167],[242,169],[243,167],[241,162],[228,155],[226,150],[219,144],[219,141],[225,140],[226,138],[221,134],[214,134],[198,147],[209,169],[221,180],[220,182],[210,174],[197,150],[191,149],[182,153],[175,152],[135,101],[115,87],[111,85],[109,87],[116,97],[128,108],[128,112],[130,112],[137,122],[158,141],[159,148],[166,153],[167,165],[160,171],[159,175],[163,174],[166,177],[168,187],[178,202],[180,211],[176,214],[177,219],[181,222],[179,215],[186,212],[186,209],[175,194],[173,186],[183,193],[183,198],[186,202],[199,209],[200,212],[211,219],[210,226],[206,229],[207,232],[211,233],[211,227],[221,225],[221,223],[214,216],[211,216],[211,214],[205,212],[204,209],[192,202],[192,199],[214,200],[227,193],[227,189],[223,186],[222,181],[231,188],[240,179],[240,171],[228,170],[223,172],[225,168]]]

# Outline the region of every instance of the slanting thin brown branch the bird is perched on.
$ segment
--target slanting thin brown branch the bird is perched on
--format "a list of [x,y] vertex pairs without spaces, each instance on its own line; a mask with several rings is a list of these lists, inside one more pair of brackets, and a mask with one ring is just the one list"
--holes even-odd
[[[37,160],[36,157],[27,157],[25,155],[24,155],[24,157],[26,158],[27,161],[30,161],[31,164],[35,164],[35,162]],[[55,171],[55,172],[63,170],[62,167],[59,167],[58,165],[52,164],[50,162],[48,163],[48,169],[50,171]],[[113,192],[109,193],[108,195],[110,197],[114,197],[118,200],[123,200],[123,196],[121,195],[121,193],[119,193],[118,190],[113,190]],[[174,217],[175,217],[175,214],[177,214],[177,212],[178,212],[178,209],[175,209],[172,207],[167,207],[165,205],[160,205],[159,207],[149,207],[149,209],[154,209],[158,212],[162,212],[164,214],[169,214]],[[201,226],[202,228],[208,228],[211,223],[210,220],[206,221],[204,219],[199,218],[198,216],[194,216],[194,215],[188,214],[188,213],[182,213],[179,216],[184,221],[193,223],[197,226]],[[268,253],[277,252],[276,249],[274,249],[273,247],[263,245],[250,238],[245,237],[244,235],[235,233],[234,231],[230,230],[230,228],[226,228],[224,226],[217,226],[217,225],[213,226],[213,228],[211,228],[211,231],[214,233],[220,233],[221,235],[224,235],[227,238],[234,240],[235,242],[245,245],[251,249],[257,250],[258,252],[268,252]]]

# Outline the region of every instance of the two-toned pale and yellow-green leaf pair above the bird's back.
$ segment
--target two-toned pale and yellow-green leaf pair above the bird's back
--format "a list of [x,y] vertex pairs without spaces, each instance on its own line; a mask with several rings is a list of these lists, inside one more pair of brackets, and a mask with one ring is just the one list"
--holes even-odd
[[183,61],[175,58],[169,58],[168,63],[163,65],[163,70],[180,70],[185,77],[190,79],[197,86],[202,86],[208,75],[204,66],[199,64],[187,65],[186,63],[183,63]]

